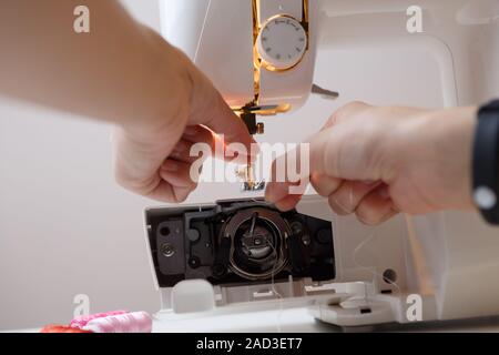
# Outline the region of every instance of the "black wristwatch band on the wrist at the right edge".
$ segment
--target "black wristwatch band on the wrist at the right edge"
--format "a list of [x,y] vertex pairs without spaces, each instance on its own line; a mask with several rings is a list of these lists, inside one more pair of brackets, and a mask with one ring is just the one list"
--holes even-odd
[[490,224],[499,224],[499,100],[478,111],[472,154],[473,200]]

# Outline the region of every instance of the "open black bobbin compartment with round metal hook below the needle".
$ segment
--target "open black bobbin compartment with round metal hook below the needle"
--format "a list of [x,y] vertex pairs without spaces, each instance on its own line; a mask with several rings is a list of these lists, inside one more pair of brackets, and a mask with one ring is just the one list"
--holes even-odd
[[184,292],[216,306],[334,293],[329,221],[255,199],[154,207],[145,219],[157,285],[175,287],[164,306],[189,308]]

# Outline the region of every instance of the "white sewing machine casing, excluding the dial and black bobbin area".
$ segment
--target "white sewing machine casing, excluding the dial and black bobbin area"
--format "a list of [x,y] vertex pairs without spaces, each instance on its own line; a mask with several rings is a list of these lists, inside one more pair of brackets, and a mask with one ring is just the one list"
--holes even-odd
[[[309,7],[307,49],[286,70],[259,68],[257,89],[254,43],[262,36],[254,33],[256,2],[261,24],[276,14],[299,22],[302,6],[308,2]],[[269,134],[277,124],[286,124],[285,139],[299,141],[306,138],[301,135],[301,115],[323,113],[324,120],[323,111],[333,111],[319,98],[307,101],[316,81],[338,90],[339,101],[345,102],[357,99],[435,108],[478,104],[499,95],[499,3],[421,0],[421,33],[407,30],[407,9],[413,4],[395,0],[165,0],[162,14],[165,37],[193,59],[232,106],[251,102],[287,105],[289,112],[267,119]],[[204,202],[213,201],[202,189]],[[235,190],[231,193],[240,197]],[[410,307],[418,297],[422,322],[499,315],[499,231],[478,215],[399,215],[368,227],[354,217],[334,215],[317,196],[306,196],[297,211],[330,221],[334,278],[214,288],[203,282],[183,282],[173,292],[161,290],[164,311],[160,316],[182,316],[166,311],[172,307],[182,314],[202,311],[196,316],[205,317],[281,304],[308,307],[316,318],[339,326],[405,324],[417,321],[418,312]],[[190,301],[193,292],[198,292],[196,302]]]

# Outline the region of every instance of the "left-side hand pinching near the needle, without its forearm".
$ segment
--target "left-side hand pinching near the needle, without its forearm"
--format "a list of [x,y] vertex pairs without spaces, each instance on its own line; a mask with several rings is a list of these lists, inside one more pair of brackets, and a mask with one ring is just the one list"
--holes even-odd
[[[162,44],[164,45],[164,43]],[[226,143],[243,143],[249,152],[254,140],[210,80],[179,50],[165,53],[162,112],[152,122],[120,126],[113,134],[115,179],[123,187],[163,202],[182,202],[195,189],[190,175],[197,156],[196,142],[213,146],[216,135]]]

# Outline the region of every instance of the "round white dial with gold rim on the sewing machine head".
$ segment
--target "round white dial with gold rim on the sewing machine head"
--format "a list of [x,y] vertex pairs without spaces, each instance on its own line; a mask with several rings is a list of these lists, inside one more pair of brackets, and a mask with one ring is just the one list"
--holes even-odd
[[291,69],[302,60],[307,49],[307,33],[302,23],[287,16],[269,19],[262,27],[256,49],[268,70]]

